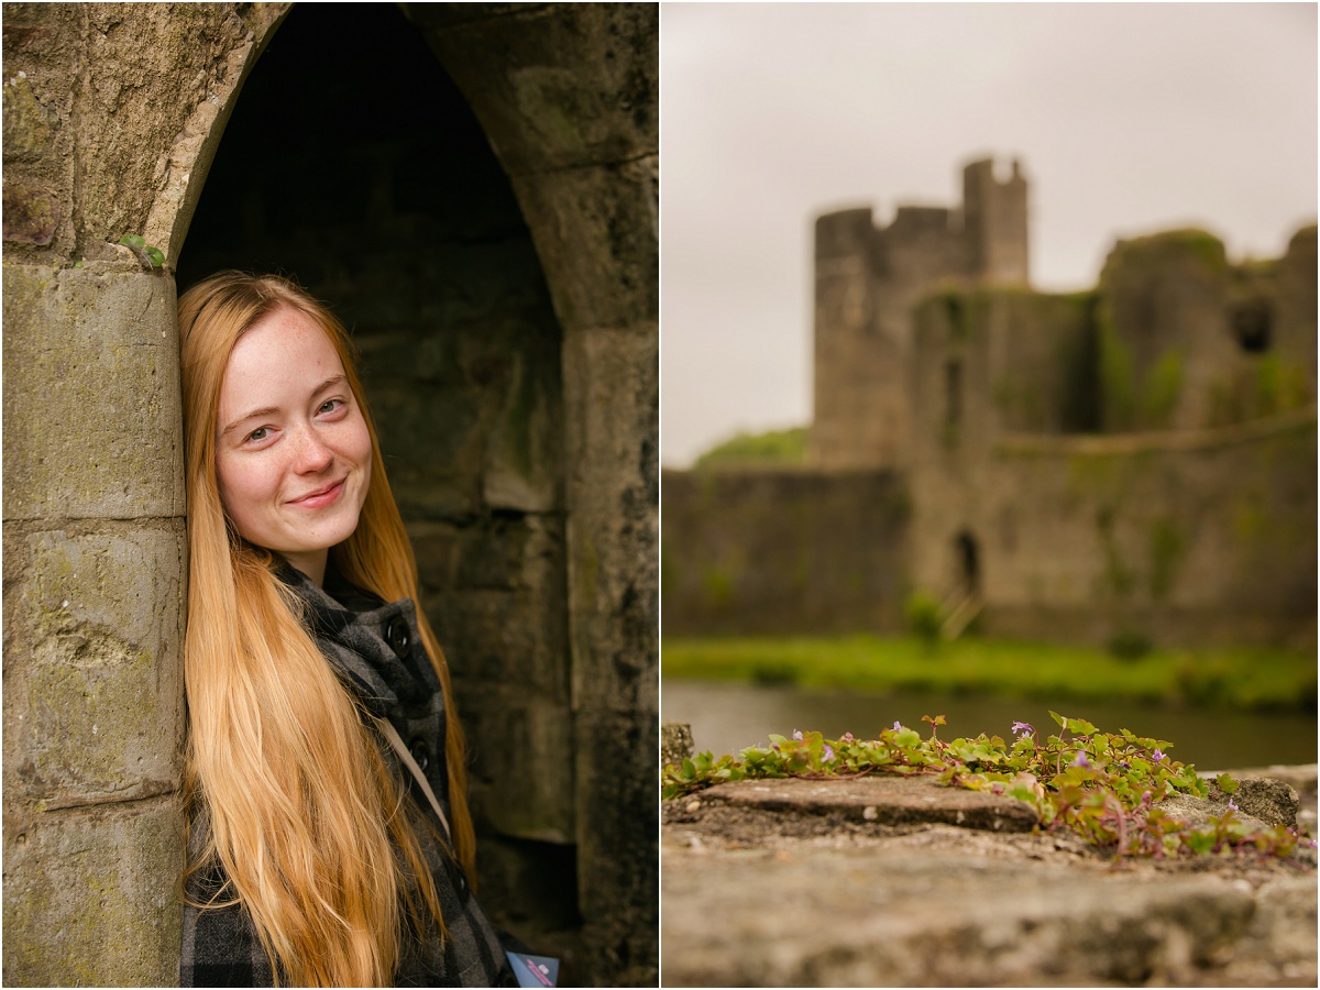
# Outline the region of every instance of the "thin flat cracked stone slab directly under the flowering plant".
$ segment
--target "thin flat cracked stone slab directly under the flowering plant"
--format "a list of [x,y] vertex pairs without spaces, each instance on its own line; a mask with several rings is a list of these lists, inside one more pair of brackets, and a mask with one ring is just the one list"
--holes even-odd
[[931,776],[735,780],[700,795],[702,804],[766,813],[837,816],[878,826],[942,824],[986,832],[1030,832],[1036,813],[1022,801],[941,787]]

